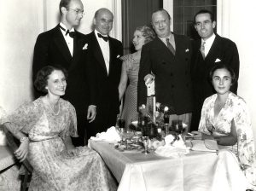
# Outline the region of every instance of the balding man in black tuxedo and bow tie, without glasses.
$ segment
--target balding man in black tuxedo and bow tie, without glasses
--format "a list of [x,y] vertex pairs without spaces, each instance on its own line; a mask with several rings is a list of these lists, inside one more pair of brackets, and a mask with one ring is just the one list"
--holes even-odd
[[119,80],[123,55],[122,43],[108,36],[113,27],[113,14],[102,8],[95,13],[93,23],[95,30],[87,35],[87,62],[96,67],[96,119],[90,123],[88,138],[96,133],[106,131],[115,125],[119,113]]

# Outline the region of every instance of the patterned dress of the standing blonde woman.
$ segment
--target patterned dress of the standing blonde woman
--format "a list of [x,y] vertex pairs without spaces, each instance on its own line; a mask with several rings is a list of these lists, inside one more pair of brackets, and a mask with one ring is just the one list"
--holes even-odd
[[132,55],[124,55],[121,59],[125,63],[129,85],[125,91],[125,102],[121,119],[125,119],[125,126],[128,127],[131,121],[138,118],[137,113],[137,80],[140,67],[140,60],[135,60]]

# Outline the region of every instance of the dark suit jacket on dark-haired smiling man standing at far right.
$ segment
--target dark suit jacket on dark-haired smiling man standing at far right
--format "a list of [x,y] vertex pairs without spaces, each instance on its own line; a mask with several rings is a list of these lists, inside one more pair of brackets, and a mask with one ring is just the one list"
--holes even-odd
[[[201,104],[208,97],[215,94],[215,90],[212,87],[211,79],[209,78],[209,72],[212,67],[219,61],[227,66],[233,68],[236,73],[236,78],[239,75],[239,55],[236,48],[236,43],[232,42],[228,38],[222,38],[216,34],[216,38],[212,43],[212,47],[209,50],[207,57],[203,60],[201,55],[201,39],[193,43],[193,56],[192,56],[192,79],[195,101],[200,101]],[[236,93],[237,83],[231,86],[231,91]]]

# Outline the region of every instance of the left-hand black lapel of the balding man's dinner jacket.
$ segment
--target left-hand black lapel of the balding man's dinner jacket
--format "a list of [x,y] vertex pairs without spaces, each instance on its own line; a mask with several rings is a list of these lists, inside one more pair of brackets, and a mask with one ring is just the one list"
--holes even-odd
[[107,67],[104,61],[104,57],[102,54],[102,49],[100,47],[100,44],[97,41],[95,32],[91,32],[92,34],[92,46],[93,46],[93,54],[96,58],[96,61],[99,62],[100,66],[104,69],[106,76],[108,76]]

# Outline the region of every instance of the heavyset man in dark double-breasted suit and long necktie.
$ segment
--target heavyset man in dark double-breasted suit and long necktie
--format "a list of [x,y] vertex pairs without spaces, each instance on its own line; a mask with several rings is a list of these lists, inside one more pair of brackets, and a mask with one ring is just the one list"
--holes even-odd
[[189,124],[192,112],[189,38],[171,32],[171,17],[165,9],[152,14],[152,26],[157,37],[142,49],[137,88],[138,107],[146,103],[144,77],[153,72],[156,101],[170,107],[171,119],[182,119]]

